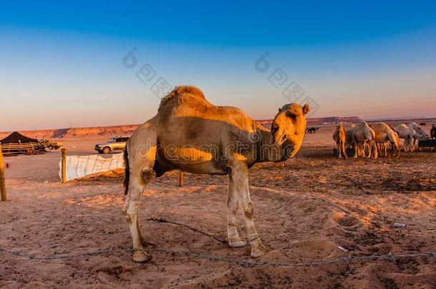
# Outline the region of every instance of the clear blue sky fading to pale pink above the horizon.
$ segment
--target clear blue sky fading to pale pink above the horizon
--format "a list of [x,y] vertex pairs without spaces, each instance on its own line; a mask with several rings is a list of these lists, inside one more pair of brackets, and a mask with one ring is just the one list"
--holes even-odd
[[436,116],[435,2],[204,2],[0,4],[0,131],[147,121],[159,99],[136,76],[145,64],[253,118],[289,102],[292,81],[313,117]]

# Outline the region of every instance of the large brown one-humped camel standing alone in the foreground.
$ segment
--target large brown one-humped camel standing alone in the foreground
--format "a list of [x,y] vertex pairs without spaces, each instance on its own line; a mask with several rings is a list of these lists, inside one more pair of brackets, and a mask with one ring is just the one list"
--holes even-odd
[[254,227],[248,169],[254,163],[285,161],[302,144],[306,104],[289,103],[279,109],[271,131],[239,108],[214,106],[194,86],[179,86],[164,97],[157,115],[139,126],[124,150],[126,202],[124,214],[132,233],[136,262],[151,260],[143,250],[137,208],[144,186],[153,176],[174,169],[190,173],[229,175],[227,240],[230,247],[247,244],[239,237],[236,213],[243,211],[252,257],[268,249]]

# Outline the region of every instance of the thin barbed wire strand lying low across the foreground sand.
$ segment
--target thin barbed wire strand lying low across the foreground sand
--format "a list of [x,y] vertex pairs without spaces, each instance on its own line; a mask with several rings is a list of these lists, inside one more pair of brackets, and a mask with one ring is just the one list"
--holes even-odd
[[[228,257],[220,257],[215,255],[207,255],[202,253],[193,253],[189,251],[178,251],[178,250],[168,250],[164,248],[155,248],[155,249],[141,249],[144,252],[156,252],[156,253],[166,253],[170,255],[184,255],[187,258],[197,258],[197,259],[204,259],[204,260],[212,260],[212,261],[221,261],[221,262],[227,262],[227,263],[233,263],[237,265],[243,265],[244,267],[256,267],[256,266],[263,266],[263,267],[314,267],[314,266],[322,266],[322,265],[332,265],[336,263],[347,263],[350,265],[351,262],[356,260],[395,260],[399,258],[435,258],[436,254],[435,252],[430,253],[402,253],[402,254],[394,254],[389,253],[387,255],[357,255],[357,256],[350,256],[350,257],[340,257],[333,260],[326,260],[326,261],[311,261],[311,262],[304,262],[304,263],[283,263],[283,262],[257,262],[252,260],[240,260],[240,259],[234,259],[234,258],[228,258]],[[112,254],[112,253],[119,253],[119,252],[135,252],[139,251],[133,248],[109,248],[105,250],[96,250],[94,252],[84,252],[84,253],[78,253],[78,254],[54,254],[54,255],[44,255],[44,256],[38,256],[38,255],[29,255],[17,251],[11,251],[6,250],[4,248],[0,248],[0,252],[8,253],[9,255],[14,255],[16,257],[26,258],[29,260],[55,260],[55,259],[74,259],[79,257],[85,257],[85,256],[93,256],[93,255],[103,255],[103,254]]]

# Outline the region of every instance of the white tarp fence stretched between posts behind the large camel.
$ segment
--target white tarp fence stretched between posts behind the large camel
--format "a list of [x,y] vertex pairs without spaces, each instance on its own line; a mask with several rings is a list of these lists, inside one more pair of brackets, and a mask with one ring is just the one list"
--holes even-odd
[[[62,160],[59,161],[59,168],[59,176],[62,180]],[[82,178],[94,173],[114,171],[117,168],[124,168],[122,153],[109,156],[66,156],[66,181]]]

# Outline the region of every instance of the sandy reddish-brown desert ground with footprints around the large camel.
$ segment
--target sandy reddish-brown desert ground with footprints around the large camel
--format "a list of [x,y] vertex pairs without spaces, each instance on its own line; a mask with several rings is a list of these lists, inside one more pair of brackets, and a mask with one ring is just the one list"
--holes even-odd
[[[332,157],[333,126],[305,136],[296,158],[250,169],[257,229],[270,253],[259,262],[305,263],[357,255],[436,251],[436,151],[400,158]],[[90,154],[101,139],[64,140],[70,154]],[[60,152],[5,158],[9,201],[0,203],[0,288],[435,288],[436,258],[355,260],[312,267],[244,267],[154,252],[132,262],[122,215],[122,173],[59,183]],[[227,177],[177,172],[144,191],[139,221],[157,248],[253,260],[249,247],[229,248],[165,218],[226,238]],[[394,228],[393,223],[406,228]],[[239,220],[242,235],[244,223]],[[344,248],[342,250],[340,248]]]

